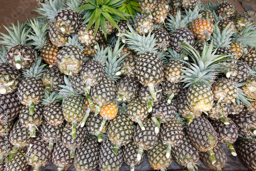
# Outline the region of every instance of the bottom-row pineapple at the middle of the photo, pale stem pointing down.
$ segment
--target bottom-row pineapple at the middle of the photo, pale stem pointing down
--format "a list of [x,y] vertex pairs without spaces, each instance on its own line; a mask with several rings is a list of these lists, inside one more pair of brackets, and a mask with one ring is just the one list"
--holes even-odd
[[141,155],[141,160],[138,161],[137,160],[137,145],[131,141],[130,143],[128,143],[125,148],[123,148],[123,161],[124,163],[126,163],[127,165],[130,165],[131,167],[131,171],[135,170],[135,166],[140,165],[143,161],[143,157],[144,157],[144,153],[142,153]]

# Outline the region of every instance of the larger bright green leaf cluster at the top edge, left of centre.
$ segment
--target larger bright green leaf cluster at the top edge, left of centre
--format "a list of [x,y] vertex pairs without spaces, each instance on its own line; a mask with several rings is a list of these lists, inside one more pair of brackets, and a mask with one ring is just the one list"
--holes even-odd
[[86,18],[83,17],[83,23],[88,23],[85,31],[88,31],[94,24],[94,36],[96,36],[100,26],[104,36],[106,37],[105,19],[107,19],[117,29],[121,30],[116,21],[119,22],[120,19],[126,20],[125,17],[129,16],[129,14],[117,9],[122,5],[123,0],[88,0],[87,2],[88,4],[82,5],[77,8],[76,11],[84,10],[84,12],[87,13],[84,15]]

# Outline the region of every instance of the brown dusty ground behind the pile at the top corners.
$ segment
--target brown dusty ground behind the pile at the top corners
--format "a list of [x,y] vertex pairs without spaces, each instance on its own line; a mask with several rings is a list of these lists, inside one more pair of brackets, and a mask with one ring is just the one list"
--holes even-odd
[[[201,0],[204,4],[207,4],[208,0]],[[212,2],[216,2],[217,0],[212,0]],[[222,0],[223,1],[223,0]],[[256,10],[256,0],[228,0],[228,2],[232,3],[238,13],[245,12],[243,6],[250,10],[251,16],[255,14],[254,10]],[[11,23],[25,22],[27,20],[26,15],[29,18],[36,17],[38,14],[33,11],[38,7],[35,0],[0,0],[1,9],[0,9],[0,32],[6,33],[4,26],[11,26]],[[255,17],[254,17],[255,18]],[[254,20],[256,22],[256,19]]]

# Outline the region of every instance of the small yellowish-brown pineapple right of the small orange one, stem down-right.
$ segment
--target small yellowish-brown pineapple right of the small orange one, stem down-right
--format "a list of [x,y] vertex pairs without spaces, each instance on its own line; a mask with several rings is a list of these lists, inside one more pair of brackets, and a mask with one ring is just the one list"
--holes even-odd
[[127,106],[127,114],[132,121],[138,123],[138,125],[141,127],[141,130],[145,130],[145,127],[142,123],[142,121],[145,120],[148,116],[148,110],[145,103],[143,103],[139,98],[134,99]]

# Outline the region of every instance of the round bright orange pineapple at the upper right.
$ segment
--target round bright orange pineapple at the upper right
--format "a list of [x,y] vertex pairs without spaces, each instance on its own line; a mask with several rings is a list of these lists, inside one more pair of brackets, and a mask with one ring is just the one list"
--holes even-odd
[[206,19],[197,18],[190,24],[190,30],[196,38],[209,40],[214,28]]

